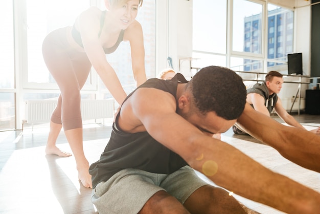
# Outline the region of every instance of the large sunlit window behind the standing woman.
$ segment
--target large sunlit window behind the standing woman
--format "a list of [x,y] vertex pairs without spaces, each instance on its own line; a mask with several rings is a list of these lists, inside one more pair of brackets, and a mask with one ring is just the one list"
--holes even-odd
[[[90,6],[105,9],[103,0],[6,0],[2,2],[0,7],[2,20],[0,22],[0,47],[2,48],[0,53],[2,59],[0,60],[2,68],[0,70],[0,131],[21,128],[21,121],[17,121],[17,119],[25,119],[24,102],[20,102],[21,100],[58,97],[58,85],[42,57],[42,41],[49,32],[72,26],[76,17]],[[144,32],[147,78],[155,76],[155,14],[155,0],[145,0],[137,16]],[[127,42],[122,43],[124,44],[119,47],[117,53],[109,58],[124,89],[129,93],[135,88],[135,82],[131,69],[130,47]],[[82,99],[110,97],[109,92],[101,82],[97,81],[98,79],[100,78],[96,72],[89,74],[81,91]],[[16,98],[17,91],[19,97]],[[19,108],[16,108],[16,100],[19,100]]]

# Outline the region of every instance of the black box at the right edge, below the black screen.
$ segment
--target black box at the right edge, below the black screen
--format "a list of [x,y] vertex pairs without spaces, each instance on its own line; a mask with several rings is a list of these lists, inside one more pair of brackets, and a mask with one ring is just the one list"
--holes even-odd
[[306,114],[320,115],[320,90],[306,90]]

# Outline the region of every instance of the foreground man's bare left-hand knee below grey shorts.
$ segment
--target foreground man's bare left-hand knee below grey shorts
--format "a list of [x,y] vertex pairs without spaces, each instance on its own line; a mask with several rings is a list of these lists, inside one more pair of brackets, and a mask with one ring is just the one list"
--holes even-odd
[[154,194],[140,210],[139,214],[145,213],[190,213],[188,210],[173,196],[166,191],[158,191]]

